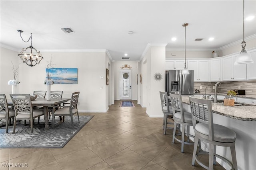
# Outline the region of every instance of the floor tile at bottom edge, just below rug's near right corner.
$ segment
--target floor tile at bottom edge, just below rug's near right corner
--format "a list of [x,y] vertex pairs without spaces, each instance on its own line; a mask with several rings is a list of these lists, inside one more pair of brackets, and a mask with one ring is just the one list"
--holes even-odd
[[60,158],[57,162],[62,170],[86,170],[102,162],[102,159],[86,148]]

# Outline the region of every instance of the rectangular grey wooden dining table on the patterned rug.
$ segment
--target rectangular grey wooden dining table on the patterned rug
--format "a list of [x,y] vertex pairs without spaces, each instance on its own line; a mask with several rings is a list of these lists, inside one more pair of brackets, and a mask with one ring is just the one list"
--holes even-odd
[[[32,106],[41,106],[44,108],[44,121],[45,121],[44,128],[46,130],[48,130],[49,129],[48,107],[57,106],[62,103],[68,102],[69,100],[71,100],[71,99],[70,98],[60,98],[60,99],[47,100],[47,99],[37,98],[35,100],[31,100],[31,104],[32,104]],[[8,99],[7,103],[9,106],[13,105],[11,99]]]

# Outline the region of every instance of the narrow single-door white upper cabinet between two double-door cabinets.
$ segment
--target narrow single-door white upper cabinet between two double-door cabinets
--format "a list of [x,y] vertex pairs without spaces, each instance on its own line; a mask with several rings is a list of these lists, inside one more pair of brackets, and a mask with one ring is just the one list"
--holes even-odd
[[210,81],[221,81],[221,59],[210,61]]

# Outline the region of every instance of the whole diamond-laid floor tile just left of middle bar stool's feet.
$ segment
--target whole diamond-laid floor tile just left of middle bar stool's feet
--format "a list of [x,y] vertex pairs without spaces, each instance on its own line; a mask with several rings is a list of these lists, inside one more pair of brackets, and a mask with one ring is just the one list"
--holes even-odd
[[129,149],[152,160],[158,154],[160,154],[164,149],[166,149],[166,147],[162,147],[161,145],[150,142],[146,139],[142,139],[141,141],[130,146]]

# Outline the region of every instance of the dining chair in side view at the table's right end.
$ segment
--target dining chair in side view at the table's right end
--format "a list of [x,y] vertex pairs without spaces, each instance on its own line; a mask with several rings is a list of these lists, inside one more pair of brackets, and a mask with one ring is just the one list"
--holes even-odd
[[[54,106],[52,111],[52,128],[54,128],[54,119],[55,116],[63,116],[63,122],[65,120],[65,116],[70,116],[72,127],[73,125],[73,115],[77,114],[78,123],[79,121],[79,114],[77,109],[78,97],[80,92],[72,93],[71,100],[69,106]],[[58,108],[58,109],[56,109]]]

